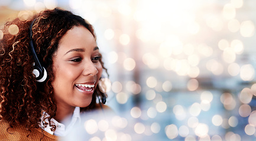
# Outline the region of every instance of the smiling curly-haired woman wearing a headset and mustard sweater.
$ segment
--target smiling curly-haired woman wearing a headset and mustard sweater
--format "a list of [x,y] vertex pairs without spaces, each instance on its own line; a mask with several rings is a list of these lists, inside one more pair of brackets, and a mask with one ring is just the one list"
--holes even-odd
[[[19,32],[9,33],[10,25]],[[0,139],[57,140],[79,122],[80,112],[99,108],[105,68],[92,25],[56,8],[14,19],[2,31]]]

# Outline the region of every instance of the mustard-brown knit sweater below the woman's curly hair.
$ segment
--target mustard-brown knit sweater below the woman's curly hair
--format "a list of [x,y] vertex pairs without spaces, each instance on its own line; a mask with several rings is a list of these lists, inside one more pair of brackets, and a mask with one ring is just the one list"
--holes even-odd
[[[43,129],[31,129],[29,132],[23,126],[15,126],[13,128],[8,128],[8,122],[0,120],[0,141],[4,140],[58,140],[57,136],[47,133]],[[29,135],[29,136],[28,136]]]

